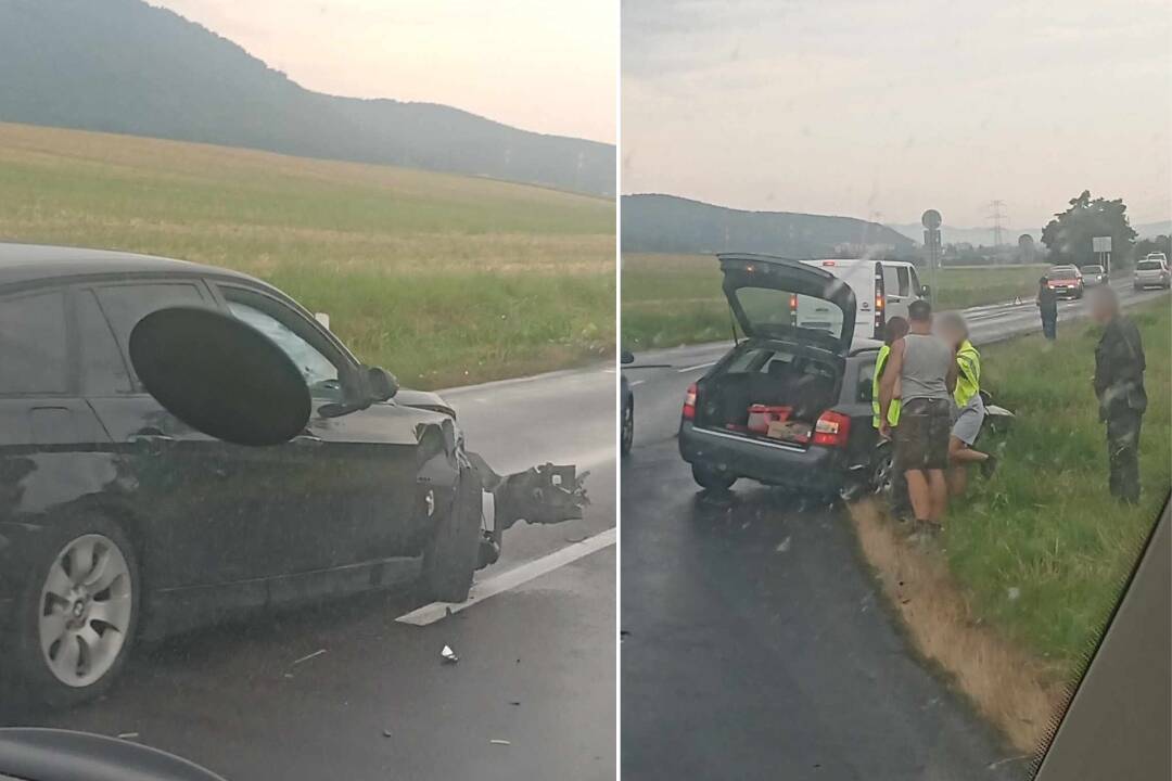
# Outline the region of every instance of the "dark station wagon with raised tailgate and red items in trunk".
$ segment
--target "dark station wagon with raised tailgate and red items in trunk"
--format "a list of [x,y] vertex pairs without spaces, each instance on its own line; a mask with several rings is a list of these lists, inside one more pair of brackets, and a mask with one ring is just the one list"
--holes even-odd
[[[851,288],[779,258],[720,263],[747,338],[688,389],[680,454],[696,482],[720,491],[751,478],[819,495],[885,488],[891,451],[871,425],[881,343],[853,338]],[[802,322],[803,311],[822,314]]]

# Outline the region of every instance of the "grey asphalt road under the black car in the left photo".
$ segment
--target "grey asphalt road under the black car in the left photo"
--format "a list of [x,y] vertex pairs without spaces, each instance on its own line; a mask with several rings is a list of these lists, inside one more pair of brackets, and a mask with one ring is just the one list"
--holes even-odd
[[[518,525],[477,582],[615,526],[614,382],[595,366],[444,393],[497,471],[593,470],[582,520]],[[136,733],[238,780],[613,779],[615,559],[602,547],[425,626],[395,621],[411,594],[379,594],[138,646],[104,700],[0,704],[0,724]]]

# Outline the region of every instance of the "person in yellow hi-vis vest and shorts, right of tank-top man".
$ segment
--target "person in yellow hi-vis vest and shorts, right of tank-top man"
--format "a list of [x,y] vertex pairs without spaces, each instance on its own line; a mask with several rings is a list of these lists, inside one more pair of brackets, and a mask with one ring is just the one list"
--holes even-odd
[[984,402],[981,399],[981,354],[968,341],[968,323],[958,313],[949,311],[940,316],[938,328],[941,338],[956,350],[956,390],[953,391],[956,411],[948,438],[948,488],[953,496],[959,496],[968,485],[969,464],[980,464],[981,472],[988,477],[996,468],[997,459],[973,447],[984,423]]

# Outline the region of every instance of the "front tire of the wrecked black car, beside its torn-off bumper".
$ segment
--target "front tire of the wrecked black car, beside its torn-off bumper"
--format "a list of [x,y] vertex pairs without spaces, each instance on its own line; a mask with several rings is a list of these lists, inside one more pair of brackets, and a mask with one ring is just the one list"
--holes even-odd
[[481,485],[462,470],[450,512],[438,521],[423,553],[422,587],[431,602],[463,602],[481,553]]

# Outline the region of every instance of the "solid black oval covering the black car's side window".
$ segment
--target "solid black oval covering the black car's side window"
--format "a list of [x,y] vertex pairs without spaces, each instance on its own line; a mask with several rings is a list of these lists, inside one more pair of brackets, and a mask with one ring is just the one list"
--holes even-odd
[[297,364],[223,311],[152,311],[130,331],[130,363],[163,409],[224,441],[279,445],[309,422],[309,388]]

